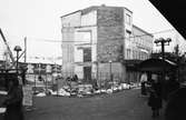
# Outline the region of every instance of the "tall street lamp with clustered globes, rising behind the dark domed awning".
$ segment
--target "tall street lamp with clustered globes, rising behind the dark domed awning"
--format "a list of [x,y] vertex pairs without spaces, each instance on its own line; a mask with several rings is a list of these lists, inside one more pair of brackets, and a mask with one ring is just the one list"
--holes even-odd
[[[170,38],[167,38],[167,39],[164,39],[164,38],[159,38],[159,39],[156,39],[155,40],[155,43],[156,46],[160,46],[161,47],[161,58],[163,58],[163,61],[165,61],[165,46],[169,46],[169,42],[172,41]],[[158,44],[160,43],[160,44]],[[168,43],[168,44],[166,44]],[[163,88],[161,88],[161,93],[163,93],[163,97],[166,97],[166,90],[165,90],[165,74],[166,74],[166,69],[165,69],[165,62],[163,62],[163,73],[161,73],[161,83],[163,83]]]

